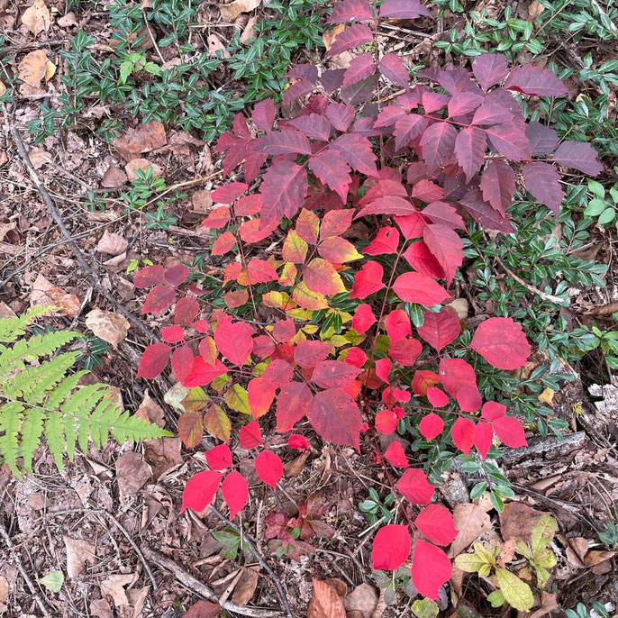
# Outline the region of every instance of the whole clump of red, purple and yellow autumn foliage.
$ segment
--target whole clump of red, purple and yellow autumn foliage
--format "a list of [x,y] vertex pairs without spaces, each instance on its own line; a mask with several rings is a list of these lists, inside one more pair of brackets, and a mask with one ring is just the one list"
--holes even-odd
[[[384,0],[378,15],[366,0],[344,0],[329,21],[354,23],[337,35],[329,54],[374,41],[367,23],[425,14],[417,0]],[[178,296],[189,272],[184,266],[144,268],[135,277],[137,287],[152,286],[144,313],[162,314],[176,303],[174,325],[162,330],[164,343],[145,350],[138,375],[158,376],[171,358],[177,379],[191,389],[179,423],[187,446],[197,444],[203,425],[223,442],[231,437],[229,416],[206,386],[250,416],[241,446],[255,453],[257,473],[270,486],[282,476],[283,463],[264,446],[258,419],[272,408],[276,432],[289,432],[306,418],[324,441],[357,450],[369,428],[395,431],[407,406],[426,411],[419,431],[427,441],[446,429],[466,455],[476,447],[485,459],[494,436],[515,448],[526,443],[521,423],[503,404],[483,402],[468,362],[523,367],[531,348],[521,326],[490,318],[468,349],[450,346],[460,323],[443,304],[463,259],[457,231],[465,232],[464,216],[471,216],[486,228],[515,232],[506,208],[518,177],[558,214],[559,166],[593,175],[601,166],[589,144],[559,143],[550,127],[524,121],[513,93],[567,94],[550,70],[509,70],[499,54],[479,56],[471,68],[424,69],[418,75],[426,83],[411,85],[395,54],[364,52],[350,68],[321,76],[311,65],[292,68],[285,103],[304,102],[294,117],[277,120],[272,100],[255,106],[251,124],[237,114],[216,150],[225,155],[225,174],[237,170],[244,181],[217,188],[216,207],[204,220],[217,234],[212,255],[230,256],[222,281],[227,310],[210,304],[211,290],[200,286]],[[388,105],[380,100],[384,80],[404,88]],[[375,230],[362,250],[346,238],[353,238],[356,219]],[[259,247],[267,239],[277,249],[264,259]],[[353,315],[333,308],[333,297],[355,301]],[[423,307],[416,336],[405,311],[411,304]],[[260,307],[273,316],[269,323],[260,322]],[[313,336],[335,316],[351,327],[348,339]],[[377,352],[384,335],[387,353]],[[307,448],[297,435],[290,446]],[[384,457],[404,469],[396,493],[425,508],[414,521],[377,532],[373,566],[403,564],[413,551],[412,533],[414,586],[435,598],[450,577],[441,546],[457,535],[452,516],[431,504],[434,486],[422,470],[409,467],[399,442]],[[221,474],[232,468],[226,444],[206,453],[206,460],[211,469],[189,479],[183,509],[203,510],[221,485],[233,517],[247,500],[247,483],[238,471]],[[277,528],[273,535],[295,552],[295,523],[279,515],[270,516],[269,530]],[[308,530],[307,518],[299,525]]]

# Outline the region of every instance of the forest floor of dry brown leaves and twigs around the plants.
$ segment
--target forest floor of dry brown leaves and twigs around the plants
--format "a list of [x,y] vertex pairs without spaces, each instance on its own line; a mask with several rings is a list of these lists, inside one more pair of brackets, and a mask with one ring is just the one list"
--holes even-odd
[[[250,63],[240,55],[249,47],[251,28],[256,24],[259,28],[262,19],[274,23],[282,18],[259,1],[236,0],[232,5],[239,3],[243,4],[237,11],[238,6],[220,10],[208,3],[170,0],[159,5],[168,5],[170,13],[177,15],[181,5],[189,4],[195,14],[182,23],[175,17],[167,23],[150,21],[140,28],[142,12],[151,10],[150,0],[135,6],[113,3],[116,8],[112,18],[108,3],[0,0],[0,23],[5,33],[0,50],[5,72],[0,80],[5,84],[0,86],[2,91],[8,88],[17,73],[26,82],[15,85],[12,95],[0,99],[4,101],[0,132],[0,316],[23,314],[38,304],[61,306],[62,311],[44,323],[54,329],[70,327],[84,332],[86,367],[93,369],[98,380],[118,389],[126,409],[139,410],[151,420],[165,423],[171,432],[176,432],[179,415],[166,397],[173,386],[171,380],[162,376],[146,382],[134,377],[141,352],[149,343],[147,335],[132,322],[128,334],[116,345],[105,344],[89,330],[86,315],[95,309],[117,311],[119,304],[135,322],[155,329],[156,321],[141,317],[144,293],[132,284],[136,268],[150,263],[194,264],[200,256],[205,271],[221,272],[225,266],[224,260],[209,256],[209,232],[201,225],[213,204],[211,194],[222,182],[221,158],[213,151],[214,135],[222,128],[216,117],[223,117],[221,110],[229,108],[232,111],[225,113],[229,120],[242,107],[236,105],[239,99],[246,96],[250,101],[255,90],[266,86],[253,69],[237,77],[237,69],[229,64],[214,68],[205,78],[207,95],[197,92],[199,88],[189,92],[192,85],[184,84],[183,104],[176,105],[163,86],[157,89],[144,66],[147,62],[174,66],[198,58],[206,62],[216,59],[217,49],[225,48],[232,50],[225,51],[232,59],[239,55],[239,63]],[[315,23],[323,23],[322,3],[297,4],[301,15],[309,6],[311,13],[320,16]],[[410,64],[464,64],[468,61],[465,55],[435,43],[448,43],[452,29],[461,32],[469,26],[472,11],[486,10],[488,18],[500,23],[508,19],[502,0],[463,4],[464,12],[447,10],[438,20],[395,23],[380,32],[382,41],[404,53]],[[586,3],[572,4],[567,3],[563,12],[586,10]],[[450,8],[455,5],[458,3],[450,3]],[[590,5],[596,5],[594,0]],[[540,15],[542,18],[542,5],[525,0],[509,8],[511,19],[519,23],[517,28],[528,23],[531,29],[537,29],[534,24]],[[546,11],[549,15],[549,9]],[[265,37],[267,45],[274,47],[277,37],[282,36],[281,28],[287,28],[287,20],[292,24],[288,30],[297,27],[309,32],[309,36],[306,32],[299,35],[305,37],[304,44],[290,53],[296,62],[311,61],[319,67],[326,62],[326,68],[350,62],[346,57],[323,60],[323,48],[316,49],[315,41],[312,43],[320,41],[322,31],[315,29],[313,22],[301,24],[300,19],[284,17],[283,26],[254,31],[254,36]],[[559,23],[559,16],[553,19]],[[492,30],[490,24],[474,27],[478,33]],[[604,95],[609,117],[615,119],[616,86],[612,79],[600,86],[598,81],[583,83],[577,76],[586,67],[586,54],[590,52],[595,67],[615,59],[616,39],[596,38],[585,28],[582,32],[586,34],[573,41],[561,23],[552,28],[550,24],[542,32],[533,31],[532,38],[540,41],[539,50],[534,46],[512,48],[513,60],[576,68],[567,80],[573,98],[586,95],[596,101]],[[75,47],[78,31],[88,39]],[[123,96],[114,94],[114,88],[122,90],[122,79],[120,84],[115,77],[104,83],[105,60],[117,69],[118,62],[114,65],[114,61],[119,42],[114,33],[118,32],[123,33],[121,39],[141,37],[140,45],[133,50],[135,56],[129,60],[132,66],[126,68],[130,86]],[[504,37],[510,37],[516,45],[522,41],[521,32],[516,28],[504,30]],[[170,37],[171,44],[159,44]],[[463,35],[467,37],[471,37],[469,32]],[[192,50],[185,47],[187,41]],[[479,41],[484,49],[493,45]],[[85,50],[89,50],[88,57]],[[278,63],[286,67],[288,59],[259,58],[267,70],[270,62],[274,71],[280,71],[273,87],[277,92],[285,73]],[[78,83],[83,92],[76,88]],[[146,86],[151,86],[150,90]],[[221,100],[212,98],[213,91],[221,94]],[[210,105],[210,115],[201,125],[187,120],[189,96],[196,97],[191,105]],[[150,112],[159,114],[166,106],[169,115],[163,123],[141,124]],[[54,115],[50,110],[61,113]],[[616,156],[608,145],[613,140],[612,122],[615,120],[597,124],[596,129],[593,123],[588,130],[600,140],[606,169],[601,182],[606,187],[618,179],[613,170]],[[36,176],[47,188],[91,272],[79,263],[60,232],[49,204],[25,166],[14,132],[21,136]],[[161,181],[158,185],[155,179],[131,184],[135,168],[149,166],[164,185]],[[597,324],[612,331],[616,328],[612,313],[618,310],[615,225],[593,225],[589,234],[581,255],[609,267],[604,274],[605,287],[574,286],[582,293],[574,295],[577,310],[565,309],[550,319],[553,323],[561,315],[569,324]],[[462,271],[467,274],[460,286],[468,289],[460,295],[474,298],[474,271],[466,269],[464,263]],[[503,279],[499,285],[513,283]],[[102,290],[113,295],[116,306]],[[536,302],[537,293],[538,286],[531,284],[520,304]],[[493,307],[492,300],[470,302],[469,318],[492,315]],[[545,359],[544,351],[535,350],[529,371]],[[559,390],[545,389],[541,395],[554,414],[568,423],[566,439],[560,441],[551,433],[545,437],[531,433],[528,447],[504,456],[499,465],[516,494],[504,512],[496,513],[484,500],[468,504],[466,475],[456,470],[447,474],[440,494],[441,502],[455,509],[457,527],[466,531],[462,542],[468,544],[475,539],[492,543],[530,534],[541,512],[551,513],[557,520],[559,533],[551,547],[558,565],[542,599],[543,606],[528,614],[531,618],[578,603],[589,607],[600,601],[610,613],[618,605],[613,587],[618,538],[613,539],[612,547],[598,536],[606,531],[608,521],[616,520],[618,383],[615,378],[613,383],[608,380],[612,371],[598,348],[582,354],[577,361],[561,361],[559,372],[570,374],[573,380],[561,382]],[[275,449],[286,444],[281,436],[270,440]],[[202,446],[212,443],[204,437]],[[236,449],[241,457],[240,446]],[[313,594],[312,577],[332,581],[345,598],[350,618],[411,615],[411,599],[400,592],[395,604],[387,604],[389,583],[384,586],[382,582],[380,587],[372,576],[368,557],[375,527],[359,510],[359,503],[368,498],[370,488],[379,493],[385,479],[370,449],[356,452],[312,447],[308,453],[287,460],[283,490],[274,492],[259,484],[252,467],[244,469],[251,498],[241,515],[241,528],[255,540],[260,559],[242,551],[236,556],[238,531],[215,513],[202,517],[192,512],[178,514],[186,479],[203,463],[203,449],[185,450],[179,438],[166,438],[135,448],[114,442],[101,450],[91,446],[87,453],[77,454],[74,462],[67,462],[62,475],[44,449],[37,451],[35,476],[19,480],[8,469],[0,468],[0,616],[173,618],[185,615],[200,599],[243,607],[242,612],[230,615],[277,616],[282,615],[277,583],[283,587],[293,615],[304,616]],[[273,512],[292,516],[297,505],[310,495],[318,495],[315,500],[324,507],[325,520],[336,529],[336,535],[329,541],[315,541],[314,551],[299,561],[276,559],[268,549],[265,516]],[[270,572],[264,563],[272,569]],[[53,582],[41,581],[58,571],[64,579],[56,590]],[[459,581],[459,588],[460,606],[468,612],[465,615],[497,615],[486,603],[486,590],[481,589],[478,578],[468,578],[463,588]],[[447,605],[443,599],[442,609]],[[216,615],[212,606],[208,607],[186,615]],[[257,608],[262,608],[262,613]],[[463,611],[458,615],[464,615]]]

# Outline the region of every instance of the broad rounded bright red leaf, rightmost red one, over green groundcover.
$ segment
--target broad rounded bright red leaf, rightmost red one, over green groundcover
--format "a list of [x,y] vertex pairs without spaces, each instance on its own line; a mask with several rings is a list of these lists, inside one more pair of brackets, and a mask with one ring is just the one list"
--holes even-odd
[[498,369],[523,367],[532,351],[521,324],[511,318],[489,318],[480,323],[470,348]]

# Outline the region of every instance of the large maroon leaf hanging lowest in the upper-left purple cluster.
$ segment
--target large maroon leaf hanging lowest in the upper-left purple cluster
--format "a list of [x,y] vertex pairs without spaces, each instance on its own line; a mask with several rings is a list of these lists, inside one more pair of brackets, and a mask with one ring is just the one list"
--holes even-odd
[[292,219],[304,203],[307,186],[307,173],[302,166],[292,161],[273,163],[259,186],[260,228],[278,224],[283,217]]

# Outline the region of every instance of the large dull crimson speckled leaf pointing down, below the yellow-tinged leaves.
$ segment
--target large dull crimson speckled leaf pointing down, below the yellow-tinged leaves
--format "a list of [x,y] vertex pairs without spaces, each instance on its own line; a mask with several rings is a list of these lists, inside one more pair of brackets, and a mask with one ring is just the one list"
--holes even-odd
[[314,395],[306,408],[307,418],[323,440],[347,444],[359,450],[359,406],[341,388],[329,388]]

